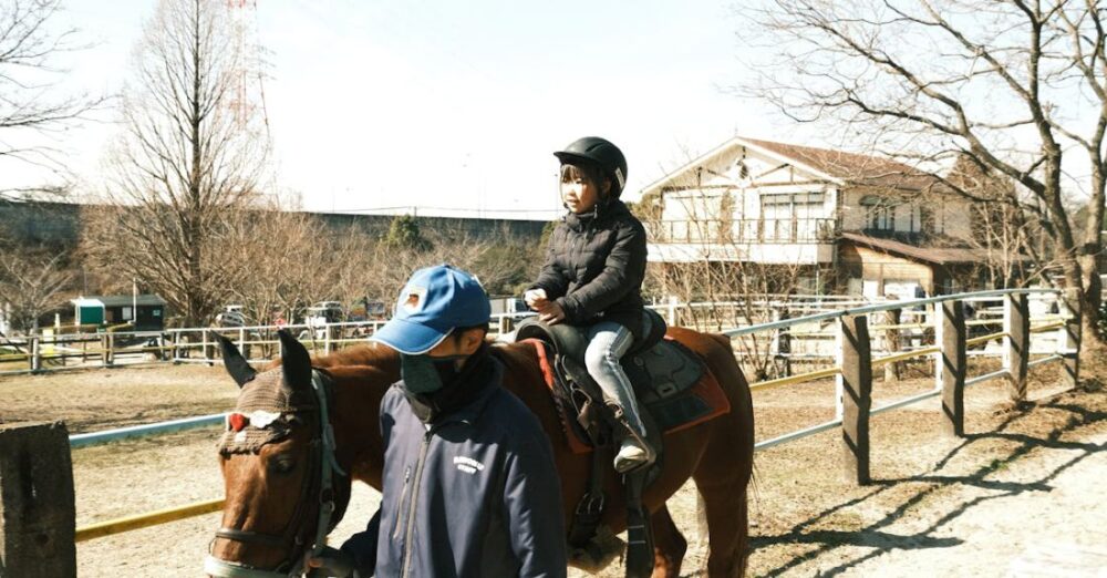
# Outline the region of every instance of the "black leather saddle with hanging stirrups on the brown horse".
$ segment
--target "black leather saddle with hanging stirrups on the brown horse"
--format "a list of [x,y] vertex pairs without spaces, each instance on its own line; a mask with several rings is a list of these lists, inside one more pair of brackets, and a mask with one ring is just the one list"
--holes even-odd
[[[653,467],[631,472],[623,478],[627,488],[628,576],[649,576],[653,568],[653,537],[650,514],[642,504],[642,491],[656,477],[664,458],[662,433],[675,431],[714,417],[730,405],[705,401],[691,390],[701,382],[705,370],[700,359],[676,341],[664,339],[666,326],[655,311],[643,313],[646,331],[631,344],[622,358],[622,368],[634,388],[646,441],[658,452]],[[584,367],[588,339],[579,328],[547,326],[536,319],[519,324],[516,341],[531,340],[538,348],[544,372],[555,404],[561,415],[569,445],[575,452],[592,453],[589,489],[577,505],[569,545],[578,565],[602,567],[610,555],[610,540],[598,537],[600,517],[606,506],[603,475],[609,465],[614,423],[600,386]],[[714,380],[712,380],[714,381]],[[717,392],[717,384],[715,388]],[[721,392],[718,392],[721,393]],[[710,395],[708,395],[710,398]],[[610,530],[608,530],[610,534]],[[619,545],[621,548],[621,544]],[[580,564],[583,561],[584,564]]]

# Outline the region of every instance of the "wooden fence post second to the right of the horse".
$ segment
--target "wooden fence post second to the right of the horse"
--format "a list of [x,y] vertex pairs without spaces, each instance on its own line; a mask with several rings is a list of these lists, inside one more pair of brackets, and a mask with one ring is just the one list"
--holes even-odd
[[935,308],[934,342],[942,348],[935,353],[934,381],[942,391],[942,431],[946,435],[965,434],[965,312],[960,300],[943,301]]

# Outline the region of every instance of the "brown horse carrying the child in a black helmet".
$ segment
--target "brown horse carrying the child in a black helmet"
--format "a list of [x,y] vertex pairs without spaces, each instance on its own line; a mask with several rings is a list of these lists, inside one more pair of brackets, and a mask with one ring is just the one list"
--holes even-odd
[[[753,407],[749,388],[734,359],[730,341],[722,336],[704,334],[673,328],[669,337],[694,351],[711,374],[723,386],[731,412],[699,425],[664,436],[664,464],[660,476],[646,488],[643,500],[652,513],[654,533],[654,577],[676,577],[687,543],[673,523],[665,500],[690,477],[703,497],[706,513],[710,557],[707,576],[741,576],[746,562],[747,512],[746,485],[753,466]],[[308,353],[293,339],[282,336],[284,352],[281,362],[257,374],[258,384],[272,383],[283,388],[293,400],[290,405],[311,407],[311,369],[323,369],[333,381],[330,423],[333,425],[335,458],[350,477],[335,477],[333,494],[341,517],[349,499],[350,478],[360,479],[374,488],[381,487],[384,448],[377,423],[381,399],[389,386],[400,379],[399,355],[389,348],[365,345],[342,350],[329,357],[309,360]],[[252,370],[237,351],[229,347],[225,362],[239,384],[252,379]],[[493,348],[506,371],[504,385],[519,396],[539,417],[554,447],[561,477],[566,527],[573,508],[586,492],[591,457],[569,450],[555,404],[545,388],[535,348],[515,343]],[[237,367],[236,367],[237,364]],[[245,368],[245,369],[244,369]],[[240,379],[239,375],[247,372]],[[269,375],[278,375],[266,380]],[[244,388],[244,395],[249,388]],[[299,399],[299,401],[294,401]],[[304,401],[309,400],[309,401]],[[241,406],[241,396],[239,400]],[[291,410],[290,413],[297,413]],[[209,559],[224,570],[208,571],[218,576],[287,576],[313,543],[315,519],[320,510],[315,492],[320,464],[318,455],[320,431],[315,411],[288,422],[287,435],[263,443],[252,452],[220,453],[226,485],[223,528],[213,540]],[[239,424],[239,426],[241,426]],[[225,434],[225,435],[232,435]],[[601,524],[618,533],[625,527],[621,505],[623,491],[613,472],[606,476],[608,507]],[[329,493],[322,502],[327,502]],[[359,512],[368,520],[371,513]],[[331,527],[337,520],[331,520]],[[328,528],[329,529],[329,528]],[[225,571],[228,566],[244,572]],[[272,572],[266,572],[266,569]],[[252,574],[251,574],[252,572]]]

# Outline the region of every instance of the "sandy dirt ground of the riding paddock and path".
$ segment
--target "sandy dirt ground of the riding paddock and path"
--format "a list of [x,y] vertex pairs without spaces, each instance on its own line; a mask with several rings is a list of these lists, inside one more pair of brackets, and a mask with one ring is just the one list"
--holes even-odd
[[[972,374],[989,371],[976,368]],[[1104,379],[1098,369],[1086,376]],[[875,406],[932,386],[877,383]],[[941,434],[939,402],[871,421],[873,483],[845,482],[836,431],[756,456],[749,574],[755,576],[1103,576],[1107,393],[1065,391],[1032,371],[1031,401],[992,381],[969,389],[966,436]],[[164,421],[234,405],[219,368],[92,370],[0,379],[0,422],[65,420],[71,433]],[[832,385],[756,393],[757,438],[830,420]],[[220,497],[214,429],[73,453],[77,525]],[[694,487],[670,507],[691,543],[682,576],[705,576]],[[355,489],[341,541],[368,520],[375,492]],[[219,515],[82,543],[82,577],[200,576]],[[601,576],[622,576],[611,567]],[[582,576],[582,575],[581,575]]]

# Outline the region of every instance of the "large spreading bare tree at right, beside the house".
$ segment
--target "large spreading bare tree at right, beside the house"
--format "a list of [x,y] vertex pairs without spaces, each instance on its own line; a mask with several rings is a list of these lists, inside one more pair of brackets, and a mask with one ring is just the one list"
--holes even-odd
[[[754,42],[758,54],[775,54],[747,93],[919,166],[964,156],[1010,178],[1017,186],[1001,202],[1037,220],[1064,283],[1079,289],[1085,334],[1098,338],[1107,185],[1098,2],[772,0],[746,13],[769,41]],[[1066,177],[1069,156],[1088,166],[1086,180]],[[1092,209],[1073,224],[1067,200],[1080,186]]]

